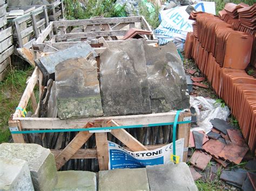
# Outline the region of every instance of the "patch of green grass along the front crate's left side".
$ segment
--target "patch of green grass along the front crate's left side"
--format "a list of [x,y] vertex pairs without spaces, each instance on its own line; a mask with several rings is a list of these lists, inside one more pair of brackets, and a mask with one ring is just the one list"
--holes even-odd
[[[26,67],[24,70],[12,68],[5,80],[0,82],[0,143],[10,140],[8,121],[18,106],[26,87],[26,79],[32,72],[32,67]],[[29,102],[27,111],[31,110],[30,105]]]

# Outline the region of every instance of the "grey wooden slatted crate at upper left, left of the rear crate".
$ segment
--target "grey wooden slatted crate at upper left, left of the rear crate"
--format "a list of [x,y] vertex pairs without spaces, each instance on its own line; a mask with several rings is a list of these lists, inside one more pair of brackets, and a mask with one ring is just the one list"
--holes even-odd
[[39,34],[49,25],[46,6],[26,13],[23,16],[10,20],[14,30],[14,43],[16,48],[31,48]]

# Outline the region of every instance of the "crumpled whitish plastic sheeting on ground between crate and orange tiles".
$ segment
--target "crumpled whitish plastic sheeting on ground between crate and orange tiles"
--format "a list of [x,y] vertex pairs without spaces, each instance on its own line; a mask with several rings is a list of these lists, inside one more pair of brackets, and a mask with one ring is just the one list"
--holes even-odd
[[[193,128],[193,130],[204,130],[208,133],[212,130],[211,119],[227,120],[227,117],[230,115],[230,109],[227,106],[221,107],[220,103],[215,102],[216,100],[210,98],[190,96],[190,106],[196,110],[197,124],[199,126],[199,128]],[[201,109],[199,109],[199,105],[202,106]]]

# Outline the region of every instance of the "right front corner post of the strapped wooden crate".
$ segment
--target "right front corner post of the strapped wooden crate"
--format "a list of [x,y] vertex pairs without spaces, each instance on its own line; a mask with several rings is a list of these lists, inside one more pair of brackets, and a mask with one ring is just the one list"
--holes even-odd
[[[179,116],[179,121],[187,121],[184,120],[186,117],[190,117],[191,113],[184,112]],[[183,154],[183,162],[187,161],[187,150],[188,150],[188,142],[190,140],[190,123],[179,124],[178,126],[178,139],[184,138],[184,154]]]

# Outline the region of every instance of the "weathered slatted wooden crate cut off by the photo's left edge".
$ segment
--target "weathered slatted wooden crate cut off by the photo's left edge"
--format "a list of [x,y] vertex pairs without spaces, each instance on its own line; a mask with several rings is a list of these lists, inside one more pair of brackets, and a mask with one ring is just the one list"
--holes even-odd
[[0,81],[10,68],[10,55],[14,52],[11,27],[0,32]]

